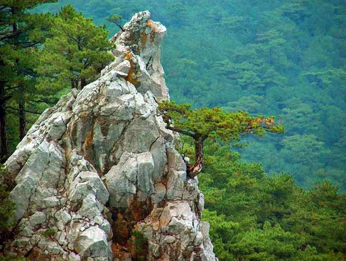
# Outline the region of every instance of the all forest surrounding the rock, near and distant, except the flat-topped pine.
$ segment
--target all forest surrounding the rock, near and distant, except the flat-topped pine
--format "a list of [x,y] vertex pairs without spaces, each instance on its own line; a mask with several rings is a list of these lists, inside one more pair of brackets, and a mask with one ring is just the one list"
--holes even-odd
[[[1,163],[112,60],[119,27],[106,18],[142,10],[167,27],[171,100],[285,128],[205,142],[199,186],[219,260],[346,260],[345,1],[0,0]],[[195,159],[189,136],[179,150]]]

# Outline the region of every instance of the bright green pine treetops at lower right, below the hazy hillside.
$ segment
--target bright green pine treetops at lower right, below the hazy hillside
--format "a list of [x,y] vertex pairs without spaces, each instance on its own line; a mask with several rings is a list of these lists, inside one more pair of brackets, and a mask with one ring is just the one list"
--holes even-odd
[[[183,152],[194,157],[190,137]],[[327,181],[309,191],[291,175],[267,176],[228,146],[207,143],[199,187],[220,260],[345,260],[346,195]]]

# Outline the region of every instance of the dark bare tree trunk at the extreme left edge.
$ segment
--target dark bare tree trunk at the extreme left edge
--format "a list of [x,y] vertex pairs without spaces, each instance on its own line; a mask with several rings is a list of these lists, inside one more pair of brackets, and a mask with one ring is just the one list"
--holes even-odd
[[5,83],[0,81],[0,140],[1,154],[0,163],[3,163],[7,156],[7,133],[6,133],[6,98],[5,98]]

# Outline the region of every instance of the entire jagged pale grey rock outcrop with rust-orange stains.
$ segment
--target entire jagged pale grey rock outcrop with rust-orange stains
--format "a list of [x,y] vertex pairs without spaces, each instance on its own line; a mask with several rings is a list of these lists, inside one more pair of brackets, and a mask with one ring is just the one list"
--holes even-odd
[[166,28],[136,14],[101,77],[47,109],[7,160],[16,225],[6,253],[32,260],[215,260],[198,179],[157,102]]

